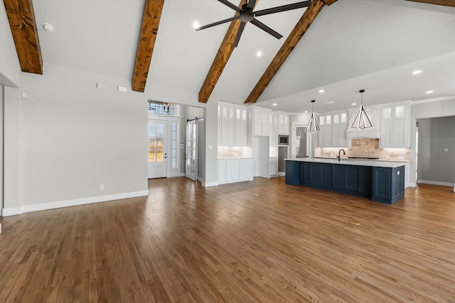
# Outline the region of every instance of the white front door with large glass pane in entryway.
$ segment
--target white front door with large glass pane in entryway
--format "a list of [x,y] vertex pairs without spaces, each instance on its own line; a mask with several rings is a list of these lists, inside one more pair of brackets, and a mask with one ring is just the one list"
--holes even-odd
[[149,179],[167,177],[167,121],[149,120]]

